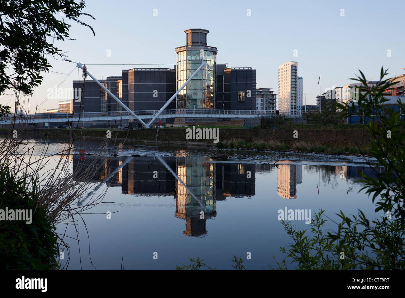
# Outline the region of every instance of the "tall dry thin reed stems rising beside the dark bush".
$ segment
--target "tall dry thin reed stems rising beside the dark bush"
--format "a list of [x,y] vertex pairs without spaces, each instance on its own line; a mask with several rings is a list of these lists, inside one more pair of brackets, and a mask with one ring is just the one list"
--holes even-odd
[[[18,93],[15,102],[15,110],[23,110],[26,114],[29,114],[29,109],[25,108],[24,101],[21,98],[19,99]],[[79,221],[84,223],[81,214],[102,203],[107,192],[106,188],[104,191],[90,193],[89,195],[90,190],[96,184],[99,184],[99,182],[94,182],[92,178],[94,173],[100,169],[101,163],[96,163],[96,159],[90,161],[87,159],[86,162],[79,163],[75,168],[75,172],[72,171],[71,154],[73,150],[79,147],[80,141],[83,141],[81,130],[77,129],[77,126],[70,128],[68,140],[59,152],[48,153],[50,136],[50,133],[48,133],[43,150],[40,154],[34,155],[35,145],[31,143],[33,138],[30,129],[27,129],[28,125],[24,122],[16,124],[17,117],[19,116],[13,118],[8,133],[0,139],[0,170],[10,169],[11,176],[22,179],[23,191],[36,194],[32,196],[34,206],[36,206],[33,213],[41,207],[42,210],[45,210],[45,216],[51,225],[59,225],[59,227],[62,224],[66,224],[66,227],[67,225],[74,226],[77,237],[73,239],[77,241],[80,251],[77,224]],[[17,132],[17,137],[13,137],[15,132]],[[79,139],[79,144],[75,144],[75,139]],[[108,164],[111,161],[108,148],[115,148],[116,141],[117,137],[115,136],[114,139],[114,135],[111,135],[111,138],[108,139],[107,137],[104,138],[94,155],[104,157],[105,163]],[[85,201],[81,200],[84,195],[87,195]],[[79,201],[80,204],[78,204]],[[18,206],[15,207],[18,208]],[[58,231],[62,232],[59,233]],[[70,247],[65,241],[66,229],[57,230],[55,228],[53,233],[57,238],[58,251],[66,249],[67,255],[69,255]],[[71,239],[71,237],[69,238]],[[59,260],[60,268],[67,268],[68,262],[69,257],[65,257],[64,265],[60,264]]]

